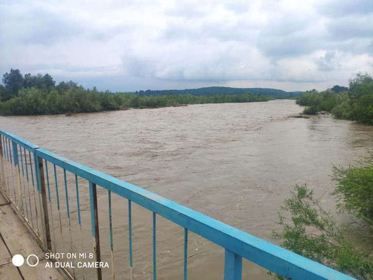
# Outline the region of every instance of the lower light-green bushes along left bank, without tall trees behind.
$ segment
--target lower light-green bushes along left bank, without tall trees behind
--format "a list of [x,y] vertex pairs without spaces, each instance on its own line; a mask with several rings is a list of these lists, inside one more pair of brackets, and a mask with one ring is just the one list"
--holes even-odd
[[120,107],[157,108],[180,104],[243,103],[271,100],[271,97],[245,93],[240,95],[153,95],[105,93],[84,88],[70,88],[63,93],[44,94],[37,88],[21,88],[18,96],[0,103],[2,115],[48,115],[118,110]]

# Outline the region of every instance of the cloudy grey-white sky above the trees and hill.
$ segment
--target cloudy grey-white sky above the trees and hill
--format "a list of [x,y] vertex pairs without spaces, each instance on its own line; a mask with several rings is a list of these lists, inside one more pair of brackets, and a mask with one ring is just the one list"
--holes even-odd
[[373,0],[0,0],[0,75],[319,90],[373,74]]

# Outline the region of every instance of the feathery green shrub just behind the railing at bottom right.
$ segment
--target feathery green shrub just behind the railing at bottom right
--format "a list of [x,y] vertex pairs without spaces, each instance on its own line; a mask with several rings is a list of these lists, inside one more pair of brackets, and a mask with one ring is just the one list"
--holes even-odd
[[[291,218],[279,214],[281,233],[273,232],[280,245],[306,258],[349,274],[357,279],[373,279],[373,258],[345,240],[341,227],[329,212],[323,210],[313,191],[296,185],[292,196],[281,210]],[[276,276],[278,279],[283,279]]]

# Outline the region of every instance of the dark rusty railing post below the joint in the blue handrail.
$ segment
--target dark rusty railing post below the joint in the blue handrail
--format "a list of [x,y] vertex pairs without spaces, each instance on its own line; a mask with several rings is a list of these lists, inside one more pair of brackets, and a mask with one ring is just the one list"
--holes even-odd
[[45,239],[43,240],[43,249],[47,251],[48,249],[52,249],[51,245],[51,230],[49,226],[49,214],[48,214],[48,203],[47,203],[47,192],[45,188],[45,178],[44,178],[44,165],[43,165],[43,159],[40,157],[37,157],[38,162],[38,180],[40,182],[40,188],[41,188],[41,200],[42,200],[42,212],[44,217],[44,225],[43,229],[45,230],[44,235]]

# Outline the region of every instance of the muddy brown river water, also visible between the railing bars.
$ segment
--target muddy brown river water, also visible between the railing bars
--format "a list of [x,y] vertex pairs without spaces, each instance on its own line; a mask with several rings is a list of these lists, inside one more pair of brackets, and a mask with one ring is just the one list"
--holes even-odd
[[[313,188],[322,206],[335,211],[332,164],[356,164],[373,146],[373,126],[328,115],[288,117],[302,109],[293,100],[188,105],[71,117],[0,117],[0,128],[273,242],[271,231],[280,230],[278,211],[296,183]],[[88,195],[87,186],[81,186],[86,248]],[[98,201],[102,258],[110,262],[104,191],[99,190]],[[126,216],[127,201],[113,195],[117,279],[129,279]],[[338,217],[351,221],[348,215]],[[152,213],[134,206],[133,225],[135,279],[152,279]],[[73,230],[73,236],[79,234]],[[222,279],[219,246],[190,233],[188,255],[190,279]],[[181,279],[182,263],[183,229],[158,218],[158,279]],[[103,273],[110,279],[111,268]],[[267,278],[264,269],[244,261],[243,279]]]

